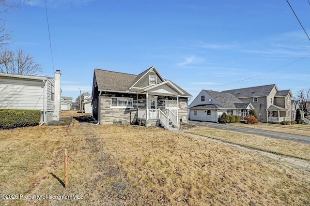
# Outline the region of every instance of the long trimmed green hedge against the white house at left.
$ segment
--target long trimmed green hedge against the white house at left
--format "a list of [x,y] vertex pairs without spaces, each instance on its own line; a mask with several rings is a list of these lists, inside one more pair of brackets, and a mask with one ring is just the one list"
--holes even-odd
[[38,125],[41,115],[40,110],[0,109],[0,129]]

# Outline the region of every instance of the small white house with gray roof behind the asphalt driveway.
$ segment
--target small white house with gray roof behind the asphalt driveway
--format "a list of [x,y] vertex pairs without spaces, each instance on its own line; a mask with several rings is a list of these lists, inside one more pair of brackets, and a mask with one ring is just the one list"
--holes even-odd
[[254,109],[251,103],[243,103],[230,93],[202,90],[189,105],[189,114],[190,120],[218,122],[218,118],[226,112],[244,120],[251,109]]

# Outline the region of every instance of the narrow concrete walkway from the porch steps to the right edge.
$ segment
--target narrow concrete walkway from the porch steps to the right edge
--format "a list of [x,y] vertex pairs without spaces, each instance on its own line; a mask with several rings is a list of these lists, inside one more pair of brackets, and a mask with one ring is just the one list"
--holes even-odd
[[218,144],[222,144],[222,145],[227,145],[227,146],[231,146],[231,147],[237,147],[239,149],[243,149],[252,153],[256,153],[256,154],[260,154],[263,155],[265,157],[269,157],[271,159],[283,162],[287,165],[290,165],[296,169],[300,169],[302,171],[305,171],[307,173],[310,174],[310,161],[306,161],[306,160],[301,160],[301,159],[297,159],[297,158],[292,158],[292,157],[286,157],[286,156],[282,156],[282,155],[277,155],[277,154],[273,154],[270,152],[264,152],[258,149],[253,149],[253,148],[249,148],[249,147],[244,147],[244,146],[240,146],[240,145],[235,145],[232,143],[227,143],[227,142],[223,142],[221,140],[217,140],[217,139],[212,139],[212,138],[208,138],[208,137],[204,137],[204,136],[200,136],[197,134],[191,134],[191,133],[186,133],[186,130],[182,130],[182,131],[174,131],[177,133],[181,133],[181,134],[186,134],[188,136],[192,136],[192,137],[196,137],[196,138],[200,138],[200,139],[204,139],[204,140],[209,140],[209,141],[213,141],[216,142]]

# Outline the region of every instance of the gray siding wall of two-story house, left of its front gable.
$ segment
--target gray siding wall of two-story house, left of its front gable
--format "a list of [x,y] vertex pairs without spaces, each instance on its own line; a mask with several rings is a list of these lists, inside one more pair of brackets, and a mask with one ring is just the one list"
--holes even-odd
[[[270,98],[270,97],[267,97]],[[267,122],[267,113],[266,113],[266,97],[257,97],[257,102],[253,102],[253,97],[248,98],[239,98],[244,103],[251,103],[255,108],[258,120],[260,122]],[[269,105],[267,105],[269,107]],[[262,116],[259,116],[259,114]]]

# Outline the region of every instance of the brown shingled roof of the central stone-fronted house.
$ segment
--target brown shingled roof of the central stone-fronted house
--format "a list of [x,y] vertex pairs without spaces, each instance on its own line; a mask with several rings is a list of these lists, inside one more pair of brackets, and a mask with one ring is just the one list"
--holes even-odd
[[[112,72],[107,70],[95,69],[94,75],[96,78],[97,86],[99,90],[111,90],[111,91],[124,91],[124,92],[138,92],[141,89],[131,88],[144,74],[146,74],[151,67],[141,74],[125,74],[119,72]],[[165,79],[164,79],[165,80]],[[179,88],[184,94],[184,97],[192,97],[184,89],[180,88],[172,81],[170,81],[176,88]]]

